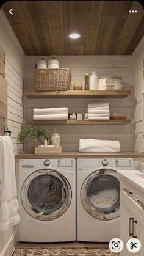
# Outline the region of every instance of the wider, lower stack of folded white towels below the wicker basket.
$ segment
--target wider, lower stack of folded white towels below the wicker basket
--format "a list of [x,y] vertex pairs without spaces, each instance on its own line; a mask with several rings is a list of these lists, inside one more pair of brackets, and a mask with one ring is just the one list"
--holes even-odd
[[68,108],[34,108],[34,120],[67,120]]

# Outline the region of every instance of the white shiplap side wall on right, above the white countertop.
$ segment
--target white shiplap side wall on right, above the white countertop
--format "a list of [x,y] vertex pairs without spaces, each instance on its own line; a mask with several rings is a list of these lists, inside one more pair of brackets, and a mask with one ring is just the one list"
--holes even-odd
[[134,100],[133,100],[133,133],[134,133],[134,151],[144,152],[143,132],[143,101],[142,91],[143,84],[143,65],[144,65],[144,37],[132,54],[132,82],[134,84]]

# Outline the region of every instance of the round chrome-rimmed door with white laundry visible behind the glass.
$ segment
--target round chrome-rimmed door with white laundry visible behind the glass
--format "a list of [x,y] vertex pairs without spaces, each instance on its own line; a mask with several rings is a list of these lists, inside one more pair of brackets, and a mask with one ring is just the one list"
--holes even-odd
[[115,173],[109,169],[98,170],[82,185],[82,205],[96,219],[110,220],[119,216],[120,183]]

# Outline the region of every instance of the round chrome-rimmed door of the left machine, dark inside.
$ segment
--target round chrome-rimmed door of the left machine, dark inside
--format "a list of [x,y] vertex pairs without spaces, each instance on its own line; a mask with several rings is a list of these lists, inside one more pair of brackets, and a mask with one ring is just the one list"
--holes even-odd
[[71,202],[71,188],[59,172],[38,170],[24,181],[21,201],[32,217],[49,221],[67,211]]

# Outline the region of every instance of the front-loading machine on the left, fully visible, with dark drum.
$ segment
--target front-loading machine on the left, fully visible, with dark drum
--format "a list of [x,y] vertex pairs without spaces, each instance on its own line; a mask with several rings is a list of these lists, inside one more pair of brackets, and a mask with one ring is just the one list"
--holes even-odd
[[20,159],[19,241],[76,240],[75,159]]

